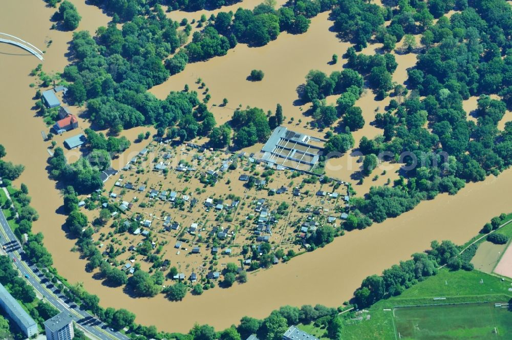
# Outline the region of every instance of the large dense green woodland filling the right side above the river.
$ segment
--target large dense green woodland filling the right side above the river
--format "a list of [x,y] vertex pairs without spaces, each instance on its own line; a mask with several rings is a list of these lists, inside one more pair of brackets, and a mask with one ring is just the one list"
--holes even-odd
[[[392,1],[386,5],[379,8],[351,0],[340,2],[333,10],[335,27],[356,44],[345,54],[347,65],[367,78],[377,98],[388,96],[393,90],[388,111],[375,116],[383,135],[364,137],[358,145],[359,151],[368,156],[364,176],[370,175],[376,165],[374,157],[382,153],[387,154],[385,160],[406,165],[405,177],[392,186],[372,187],[365,198],[353,199],[350,218],[367,216],[376,222],[396,217],[438,193],[456,194],[465,182],[498,175],[512,164],[512,123],[507,122],[503,131],[497,128],[512,98],[512,59],[507,55],[511,44],[507,34],[512,27],[507,17],[512,14],[511,7],[503,0],[470,4]],[[454,6],[460,12],[450,19],[442,16]],[[433,17],[440,17],[435,25]],[[383,20],[391,23],[385,27]],[[408,89],[392,81],[397,63],[391,54],[356,53],[373,35],[382,42],[400,41],[407,34],[417,33],[423,33],[421,44],[426,49],[418,50],[417,65],[408,70]],[[326,80],[314,82],[318,90],[313,93],[324,95],[319,85],[332,87],[325,83]],[[316,89],[312,84],[308,79],[305,93]],[[338,117],[340,108],[348,107],[343,123],[353,131],[364,120],[352,106],[357,96],[347,98],[347,93],[338,99]],[[498,93],[504,102],[488,96]],[[468,121],[462,109],[462,101],[470,96],[480,96],[474,112],[476,123]],[[315,124],[329,126],[325,123],[338,118],[333,114],[331,109],[318,111]],[[347,134],[331,134],[326,151],[344,152],[349,146]],[[354,221],[352,225],[358,223]]]

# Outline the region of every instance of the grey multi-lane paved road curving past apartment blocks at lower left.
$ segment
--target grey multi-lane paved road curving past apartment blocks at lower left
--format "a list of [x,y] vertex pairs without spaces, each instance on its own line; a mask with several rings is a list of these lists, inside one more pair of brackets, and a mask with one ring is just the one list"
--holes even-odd
[[52,304],[60,311],[70,312],[70,314],[73,315],[73,320],[81,326],[81,328],[86,332],[86,335],[92,338],[112,338],[119,340],[130,339],[122,333],[111,331],[100,320],[93,317],[87,311],[81,310],[72,301],[67,300],[66,296],[60,294],[54,285],[45,278],[42,272],[37,269],[34,264],[28,262],[25,258],[23,248],[9,227],[2,209],[0,209],[0,226],[3,230],[3,232],[0,232],[0,243],[2,245],[6,245],[5,251],[7,252],[7,255],[12,259],[16,259],[13,264],[22,273],[23,277],[27,277],[26,275],[28,275],[27,281],[39,294],[44,296],[44,299],[48,303]]

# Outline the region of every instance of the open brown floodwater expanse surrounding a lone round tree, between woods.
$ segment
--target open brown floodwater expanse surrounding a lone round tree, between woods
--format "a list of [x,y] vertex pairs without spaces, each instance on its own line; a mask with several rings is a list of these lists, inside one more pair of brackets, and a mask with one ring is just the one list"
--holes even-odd
[[[243,108],[249,105],[274,111],[278,103],[283,106],[287,119],[293,117],[295,121],[306,121],[307,117],[299,104],[294,104],[298,99],[296,88],[304,82],[309,70],[321,70],[328,74],[341,71],[341,55],[350,46],[329,30],[332,22],[327,19],[328,16],[329,13],[325,12],[312,18],[309,30],[304,34],[283,32],[263,47],[251,48],[239,44],[225,56],[191,63],[184,71],[150,91],[163,99],[171,90],[182,90],[185,84],[197,89],[195,81],[201,78],[212,97],[210,104],[218,105],[223,98],[229,100],[225,108],[216,106],[210,109],[216,115],[217,122],[231,119],[233,110],[239,104]],[[336,65],[330,65],[334,53],[340,58]],[[262,81],[246,79],[252,69],[265,73]]]

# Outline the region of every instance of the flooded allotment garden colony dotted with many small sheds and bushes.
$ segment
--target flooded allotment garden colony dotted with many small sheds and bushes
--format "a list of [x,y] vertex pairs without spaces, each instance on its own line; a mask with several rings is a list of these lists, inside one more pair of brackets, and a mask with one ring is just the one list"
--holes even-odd
[[221,273],[232,263],[243,283],[245,271],[307,250],[318,228],[342,232],[348,212],[345,182],[268,167],[258,156],[153,141],[79,205],[95,244],[128,274],[161,270],[164,285],[209,289],[226,285]]

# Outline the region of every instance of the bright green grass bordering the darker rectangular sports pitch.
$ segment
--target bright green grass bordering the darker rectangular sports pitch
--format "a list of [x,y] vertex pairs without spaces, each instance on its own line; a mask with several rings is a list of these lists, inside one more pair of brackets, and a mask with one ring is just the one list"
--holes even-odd
[[[483,280],[483,284],[480,283],[480,280]],[[395,335],[394,330],[396,325],[393,311],[386,311],[384,309],[393,310],[396,306],[433,303],[508,301],[512,298],[512,292],[508,291],[508,288],[512,288],[511,283],[512,281],[501,281],[500,278],[476,270],[449,271],[442,269],[434,277],[418,283],[404,291],[401,295],[381,300],[374,304],[368,313],[363,314],[365,316],[364,320],[346,320],[342,338],[344,340],[398,339],[398,335]],[[446,298],[446,300],[433,300],[433,298],[440,297]],[[442,308],[441,306],[435,307]],[[367,314],[370,314],[370,320],[366,320]],[[508,317],[508,322],[512,324],[512,312],[505,314],[505,317]],[[494,336],[496,337],[496,334]],[[440,338],[450,339],[450,337]]]

